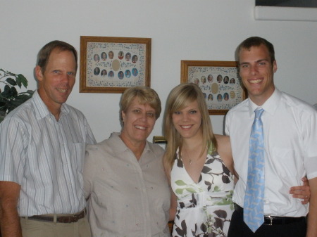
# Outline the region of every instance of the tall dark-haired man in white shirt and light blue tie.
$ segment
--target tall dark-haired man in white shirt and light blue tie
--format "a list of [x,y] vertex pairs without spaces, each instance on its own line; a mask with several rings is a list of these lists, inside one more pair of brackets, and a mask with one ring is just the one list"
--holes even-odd
[[[237,60],[249,98],[232,108],[225,121],[239,174],[228,236],[317,236],[317,111],[275,87],[273,76],[278,68],[273,45],[266,39],[245,39],[237,48]],[[246,202],[250,196],[246,191],[248,179],[251,179],[248,177],[249,140],[254,111],[258,108],[263,109],[260,115],[263,122],[260,126],[263,127],[264,195],[260,202],[263,214],[259,227],[251,231],[244,222],[244,212],[247,213],[251,205]],[[305,175],[311,186],[309,205],[302,205],[289,194],[290,187],[299,186]]]

